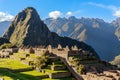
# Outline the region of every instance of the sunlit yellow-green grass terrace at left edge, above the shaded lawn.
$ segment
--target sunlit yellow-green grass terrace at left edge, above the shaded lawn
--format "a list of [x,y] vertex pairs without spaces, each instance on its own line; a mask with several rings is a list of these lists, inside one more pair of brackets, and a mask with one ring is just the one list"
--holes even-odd
[[24,68],[31,68],[31,67],[28,65],[22,64],[18,60],[0,59],[0,68],[8,68],[11,70],[16,70],[16,69],[24,69]]

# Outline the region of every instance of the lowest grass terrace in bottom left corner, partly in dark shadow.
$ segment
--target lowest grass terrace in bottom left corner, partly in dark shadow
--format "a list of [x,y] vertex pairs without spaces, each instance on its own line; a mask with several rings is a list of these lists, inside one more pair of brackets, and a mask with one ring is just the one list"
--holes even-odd
[[[31,72],[31,73],[30,73]],[[20,73],[13,73],[6,68],[0,68],[0,78],[4,78],[5,80],[41,80],[40,78],[36,77],[35,71],[28,71],[28,72],[20,72]],[[34,74],[35,73],[35,74]],[[34,75],[33,75],[34,74]],[[37,73],[36,75],[43,76],[41,73]]]

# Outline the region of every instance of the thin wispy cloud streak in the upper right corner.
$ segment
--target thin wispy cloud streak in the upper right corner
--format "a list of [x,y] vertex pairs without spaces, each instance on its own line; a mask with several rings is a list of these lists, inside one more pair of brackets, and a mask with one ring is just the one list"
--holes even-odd
[[98,4],[93,2],[88,2],[89,5],[97,6],[104,9],[109,9],[113,12],[113,16],[120,17],[120,7],[114,6],[114,5],[104,5],[104,4]]

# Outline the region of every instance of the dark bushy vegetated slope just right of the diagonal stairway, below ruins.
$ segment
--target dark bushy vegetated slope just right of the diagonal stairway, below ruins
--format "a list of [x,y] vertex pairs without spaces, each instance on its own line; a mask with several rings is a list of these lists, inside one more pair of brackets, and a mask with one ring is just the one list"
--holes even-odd
[[94,68],[96,68],[96,66],[99,67],[99,65],[102,66],[98,59],[95,56],[90,56],[88,52],[86,52],[85,55],[81,57],[69,57],[69,61],[79,74],[86,74],[86,67],[88,66],[92,66]]

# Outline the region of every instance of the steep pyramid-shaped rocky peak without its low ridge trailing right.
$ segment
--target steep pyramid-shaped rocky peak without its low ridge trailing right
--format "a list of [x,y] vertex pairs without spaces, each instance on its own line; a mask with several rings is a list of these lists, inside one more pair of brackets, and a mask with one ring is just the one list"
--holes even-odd
[[[41,36],[39,36],[40,34]],[[27,7],[18,13],[3,37],[17,46],[22,44],[35,46],[40,45],[40,41],[50,34],[37,11],[32,7]]]

